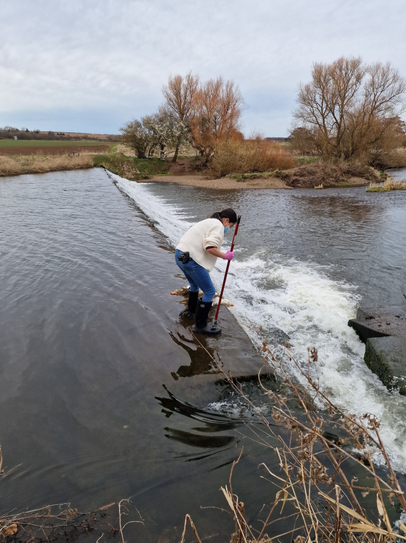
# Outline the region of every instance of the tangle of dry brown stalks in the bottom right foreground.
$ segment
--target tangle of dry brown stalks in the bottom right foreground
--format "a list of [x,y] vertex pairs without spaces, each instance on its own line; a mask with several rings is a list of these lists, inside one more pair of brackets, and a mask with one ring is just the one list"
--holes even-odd
[[[259,338],[261,331],[258,331]],[[276,454],[280,470],[271,471],[265,463],[261,464],[265,470],[262,478],[267,479],[276,490],[269,500],[265,520],[258,519],[258,528],[255,528],[255,522],[246,519],[244,503],[232,488],[233,469],[241,453],[234,461],[229,486],[221,487],[236,523],[231,543],[270,543],[275,540],[294,543],[405,541],[406,500],[380,438],[376,416],[365,413],[358,418],[347,414],[320,389],[318,352],[315,348],[308,349],[307,368],[303,369],[295,361],[288,344],[277,360],[268,342],[262,338],[261,341],[265,362],[271,364],[280,376],[280,390],[284,390],[284,394],[263,387],[260,375],[259,384],[264,395],[271,400],[272,418],[277,425],[284,426],[283,432],[275,430],[275,424],[271,424],[244,395],[238,381],[224,372],[223,375],[234,392],[243,396],[261,420],[262,425],[257,422],[248,425],[252,439]],[[211,358],[213,365],[221,370]],[[284,369],[287,359],[294,363],[307,382],[307,391],[293,383],[287,374]],[[292,407],[295,403],[293,398],[299,409]],[[328,418],[315,407],[316,399],[323,405]],[[332,428],[339,435],[331,433]],[[287,439],[283,437],[286,430]],[[377,453],[386,465],[386,479],[379,475],[372,462],[372,454]],[[357,469],[357,476],[354,476],[354,468]],[[390,516],[394,515],[398,518],[395,523],[390,520]],[[399,519],[399,516],[402,518]],[[195,536],[199,541],[198,535]]]

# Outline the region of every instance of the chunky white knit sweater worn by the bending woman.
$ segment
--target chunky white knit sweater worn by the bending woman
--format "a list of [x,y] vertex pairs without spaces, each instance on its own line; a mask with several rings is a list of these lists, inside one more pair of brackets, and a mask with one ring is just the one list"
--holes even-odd
[[220,249],[224,239],[224,226],[219,219],[205,219],[196,223],[180,238],[176,249],[189,251],[191,258],[207,271],[214,267],[217,256],[206,251],[207,247]]

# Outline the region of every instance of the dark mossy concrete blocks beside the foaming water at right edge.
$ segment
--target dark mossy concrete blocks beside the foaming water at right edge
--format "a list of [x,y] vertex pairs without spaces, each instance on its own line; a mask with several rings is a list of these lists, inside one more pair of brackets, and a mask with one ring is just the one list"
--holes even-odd
[[406,396],[406,314],[360,307],[348,326],[365,343],[366,365],[388,390]]

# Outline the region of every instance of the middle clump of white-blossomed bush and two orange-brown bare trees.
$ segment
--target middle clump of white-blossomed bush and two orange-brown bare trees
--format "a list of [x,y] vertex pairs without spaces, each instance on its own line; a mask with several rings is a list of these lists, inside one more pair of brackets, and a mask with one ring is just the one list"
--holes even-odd
[[139,158],[174,153],[189,143],[207,165],[218,142],[236,137],[245,103],[233,81],[222,77],[200,81],[191,72],[169,77],[163,86],[163,103],[153,115],[132,119],[120,129],[122,142]]

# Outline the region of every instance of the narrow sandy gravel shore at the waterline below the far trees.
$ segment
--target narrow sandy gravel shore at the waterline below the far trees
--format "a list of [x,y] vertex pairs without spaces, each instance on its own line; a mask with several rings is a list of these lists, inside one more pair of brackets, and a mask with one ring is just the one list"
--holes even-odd
[[[206,179],[203,175],[155,175],[150,179],[145,179],[139,182],[160,182],[160,183],[175,183],[176,185],[185,185],[188,187],[199,188],[214,188],[215,190],[242,190],[244,188],[287,188],[286,183],[282,179],[275,177],[246,179],[237,181],[236,179],[221,178],[221,179]],[[339,187],[361,187],[369,185],[369,181],[365,181],[360,177],[349,178],[345,183],[337,184]]]

